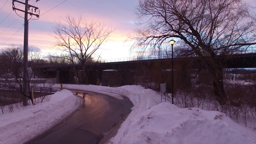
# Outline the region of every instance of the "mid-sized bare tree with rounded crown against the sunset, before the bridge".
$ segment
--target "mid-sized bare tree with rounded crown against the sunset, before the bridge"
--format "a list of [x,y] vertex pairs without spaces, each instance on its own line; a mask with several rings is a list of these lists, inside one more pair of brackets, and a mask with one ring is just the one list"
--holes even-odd
[[[79,78],[79,82],[84,83],[86,81],[86,61],[96,54],[113,30],[100,22],[86,22],[82,15],[78,15],[77,18],[66,16],[56,24],[54,26],[54,38],[57,40],[55,46],[67,53],[67,55],[59,57],[70,60],[74,66],[76,78]],[[82,69],[81,76],[75,66],[76,61],[82,66],[80,68],[80,70]]]

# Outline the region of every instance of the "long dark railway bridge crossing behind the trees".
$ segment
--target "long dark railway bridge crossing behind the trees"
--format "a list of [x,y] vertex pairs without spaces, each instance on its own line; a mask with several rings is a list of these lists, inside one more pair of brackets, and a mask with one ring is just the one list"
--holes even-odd
[[[256,53],[233,54],[225,59],[223,68],[256,68]],[[188,75],[200,66],[198,57],[173,58],[173,60],[174,76],[181,76],[182,79],[190,79]],[[77,70],[82,70],[82,66],[79,64],[75,67]],[[170,81],[172,58],[159,56],[122,58],[86,64],[85,67],[88,78],[86,84],[96,85],[97,80],[100,80],[104,86],[131,85],[138,81],[142,75],[145,77],[145,75],[150,76],[156,73],[161,75],[159,82],[164,82],[165,79]],[[57,83],[75,83],[73,65],[39,66],[32,69],[40,78],[56,78]]]

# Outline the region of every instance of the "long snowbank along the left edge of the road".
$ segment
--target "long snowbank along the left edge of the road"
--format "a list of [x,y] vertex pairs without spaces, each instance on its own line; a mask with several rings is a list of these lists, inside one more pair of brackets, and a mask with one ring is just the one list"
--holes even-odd
[[0,116],[0,144],[18,144],[44,132],[77,108],[78,98],[62,90],[48,102],[26,106]]

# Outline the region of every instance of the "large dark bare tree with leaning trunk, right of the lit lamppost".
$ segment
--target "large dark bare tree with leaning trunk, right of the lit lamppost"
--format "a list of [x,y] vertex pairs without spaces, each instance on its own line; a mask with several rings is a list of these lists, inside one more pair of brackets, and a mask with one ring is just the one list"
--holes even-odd
[[224,92],[222,64],[226,56],[256,44],[255,19],[240,0],[140,0],[134,47],[157,49],[176,38],[183,56],[197,56],[200,67],[210,72],[214,94],[220,104]]

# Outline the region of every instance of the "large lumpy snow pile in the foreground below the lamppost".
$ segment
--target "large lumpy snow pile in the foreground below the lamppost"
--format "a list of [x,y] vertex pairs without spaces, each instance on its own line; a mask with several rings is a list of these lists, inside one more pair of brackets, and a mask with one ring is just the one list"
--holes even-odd
[[256,144],[256,133],[221,112],[158,104],[125,122],[114,144]]

